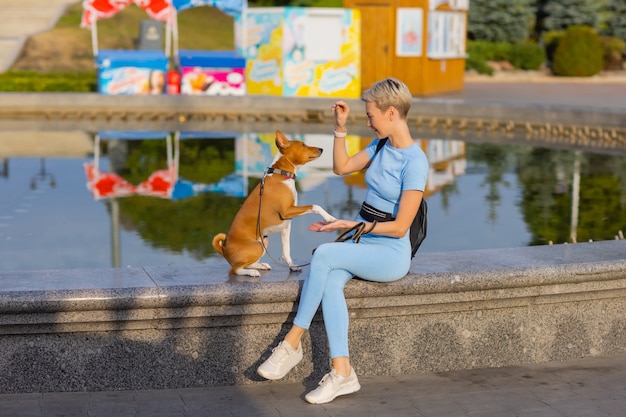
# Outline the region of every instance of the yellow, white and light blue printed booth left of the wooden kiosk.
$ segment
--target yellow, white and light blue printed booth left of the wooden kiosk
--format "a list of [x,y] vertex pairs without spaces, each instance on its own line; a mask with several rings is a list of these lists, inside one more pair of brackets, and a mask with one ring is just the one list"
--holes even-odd
[[286,97],[361,94],[358,10],[314,7],[248,9],[235,19],[246,58],[247,93]]

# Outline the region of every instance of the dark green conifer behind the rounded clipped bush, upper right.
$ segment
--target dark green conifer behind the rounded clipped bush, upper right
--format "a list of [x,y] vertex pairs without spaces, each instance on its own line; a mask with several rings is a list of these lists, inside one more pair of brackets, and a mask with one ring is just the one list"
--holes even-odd
[[[623,0],[622,0],[623,1]],[[599,29],[604,0],[546,0],[543,3],[543,28],[563,30],[582,25]]]

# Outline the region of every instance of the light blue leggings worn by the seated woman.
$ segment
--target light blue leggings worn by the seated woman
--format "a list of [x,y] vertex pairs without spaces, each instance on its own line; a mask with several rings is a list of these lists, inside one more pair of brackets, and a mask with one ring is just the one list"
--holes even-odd
[[348,306],[343,294],[346,283],[354,276],[376,282],[396,281],[409,270],[410,254],[383,241],[332,242],[315,250],[294,324],[308,329],[321,302],[331,358],[350,356]]

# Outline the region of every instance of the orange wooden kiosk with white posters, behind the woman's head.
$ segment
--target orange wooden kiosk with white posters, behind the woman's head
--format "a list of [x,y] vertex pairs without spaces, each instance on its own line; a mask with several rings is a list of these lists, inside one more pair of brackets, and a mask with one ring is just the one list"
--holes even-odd
[[463,90],[469,0],[344,0],[361,12],[363,88],[394,76],[416,96]]

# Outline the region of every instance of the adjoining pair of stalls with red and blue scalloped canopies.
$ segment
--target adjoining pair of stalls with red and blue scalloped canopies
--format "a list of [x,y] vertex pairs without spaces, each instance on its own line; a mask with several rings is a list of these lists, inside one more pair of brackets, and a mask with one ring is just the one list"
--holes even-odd
[[[99,50],[98,20],[110,18],[136,4],[165,23],[163,50]],[[236,51],[178,50],[178,12],[199,6],[216,7],[237,16],[246,0],[85,0],[81,26],[91,29],[102,94],[243,95],[245,59]],[[159,42],[156,42],[159,43]],[[171,50],[173,49],[173,53]],[[171,57],[173,56],[173,59]],[[176,69],[171,64],[177,66]]]

